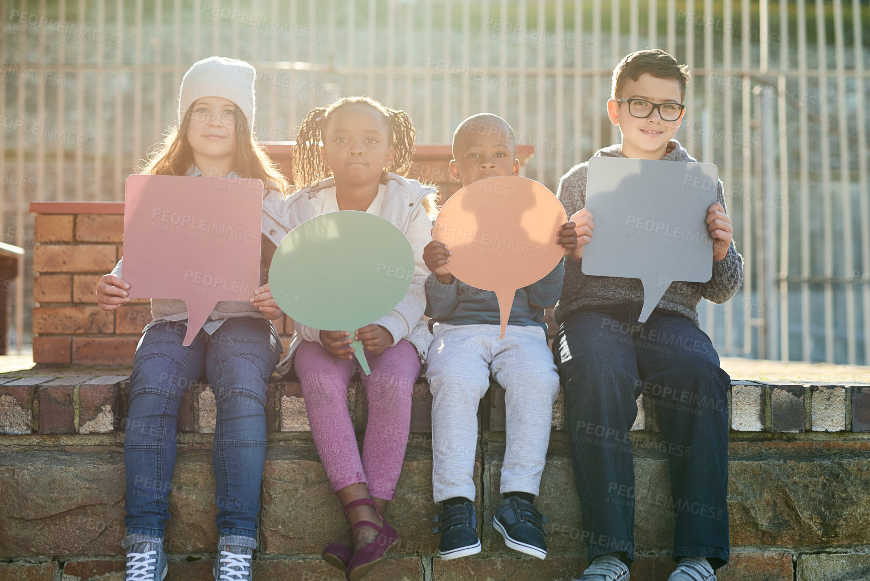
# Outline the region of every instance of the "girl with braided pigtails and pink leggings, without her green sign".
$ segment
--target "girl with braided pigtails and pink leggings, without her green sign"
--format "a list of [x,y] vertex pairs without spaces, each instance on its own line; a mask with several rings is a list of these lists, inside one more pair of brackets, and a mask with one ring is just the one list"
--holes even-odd
[[374,213],[402,230],[414,251],[408,294],[389,314],[354,331],[371,366],[371,375],[360,374],[369,403],[362,454],[346,405],[356,367],[350,333],[297,323],[288,355],[278,364],[282,375],[291,365],[296,370],[311,435],[351,525],[325,548],[324,560],[351,581],[371,571],[398,540],[381,513],[395,494],[411,425],[412,388],[432,341],[423,318],[429,274],[423,248],[432,241],[436,190],[402,177],[413,163],[414,134],[405,111],[371,98],[343,98],[314,109],[300,125],[293,148],[293,177],[302,189],[283,208],[282,222],[291,228],[328,212]]

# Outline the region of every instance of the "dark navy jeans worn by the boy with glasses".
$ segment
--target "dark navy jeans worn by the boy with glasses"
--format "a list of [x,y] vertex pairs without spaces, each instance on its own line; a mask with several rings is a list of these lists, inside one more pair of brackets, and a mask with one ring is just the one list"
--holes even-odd
[[673,506],[673,557],[707,557],[717,568],[729,554],[731,380],[692,321],[656,309],[637,325],[640,307],[574,313],[554,345],[589,561],[611,552],[629,564],[634,559],[635,497],[651,494],[634,488],[629,438],[643,393],[655,402],[665,441],[671,498],[655,503]]

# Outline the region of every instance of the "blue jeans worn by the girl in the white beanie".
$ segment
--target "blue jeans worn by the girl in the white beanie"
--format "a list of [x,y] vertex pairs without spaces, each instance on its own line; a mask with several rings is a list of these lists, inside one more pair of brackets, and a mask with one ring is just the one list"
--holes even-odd
[[147,329],[130,378],[124,431],[127,535],[163,537],[175,471],[178,406],[203,378],[217,403],[212,462],[218,533],[256,537],[266,453],[266,382],[281,341],[269,321],[228,319],[211,335],[200,330],[184,347],[184,321]]

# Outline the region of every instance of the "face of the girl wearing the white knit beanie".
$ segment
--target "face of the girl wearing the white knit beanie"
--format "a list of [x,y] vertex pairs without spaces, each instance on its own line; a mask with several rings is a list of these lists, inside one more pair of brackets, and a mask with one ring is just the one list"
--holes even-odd
[[220,97],[199,98],[191,105],[187,141],[194,155],[222,159],[236,156],[236,105]]

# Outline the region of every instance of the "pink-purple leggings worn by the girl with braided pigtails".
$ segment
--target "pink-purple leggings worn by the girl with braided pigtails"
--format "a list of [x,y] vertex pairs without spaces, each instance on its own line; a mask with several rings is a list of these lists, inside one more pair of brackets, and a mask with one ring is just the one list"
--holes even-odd
[[356,359],[336,359],[318,343],[303,341],[294,366],[302,383],[311,436],[336,492],[367,483],[371,497],[392,500],[411,428],[411,396],[420,375],[417,349],[404,339],[380,355],[365,354],[371,375],[360,377],[369,402],[363,454],[347,410],[347,384]]

